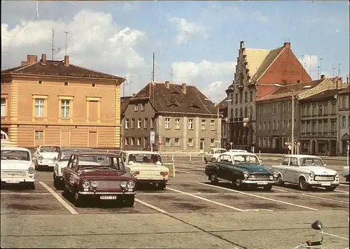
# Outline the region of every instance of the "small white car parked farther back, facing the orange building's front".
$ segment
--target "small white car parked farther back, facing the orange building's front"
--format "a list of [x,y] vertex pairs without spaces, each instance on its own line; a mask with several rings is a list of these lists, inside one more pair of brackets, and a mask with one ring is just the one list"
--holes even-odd
[[40,145],[36,148],[33,155],[34,165],[36,169],[43,167],[54,167],[55,160],[61,147],[57,145]]

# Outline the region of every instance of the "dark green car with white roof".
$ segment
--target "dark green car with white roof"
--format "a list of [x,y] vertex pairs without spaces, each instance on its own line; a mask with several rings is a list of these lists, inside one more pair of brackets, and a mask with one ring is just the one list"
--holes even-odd
[[228,180],[236,188],[249,185],[264,190],[271,190],[278,177],[277,172],[263,166],[250,152],[225,152],[218,156],[217,162],[205,166],[205,174],[214,184]]

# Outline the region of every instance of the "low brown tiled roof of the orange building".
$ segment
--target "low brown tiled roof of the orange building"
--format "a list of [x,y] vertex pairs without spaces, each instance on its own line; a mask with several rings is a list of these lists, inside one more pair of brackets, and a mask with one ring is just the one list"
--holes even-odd
[[76,66],[73,64],[69,64],[69,66],[65,66],[64,61],[55,61],[55,60],[47,60],[46,64],[42,64],[40,61],[38,61],[38,62],[35,62],[34,64],[25,64],[23,66],[15,66],[10,69],[1,70],[1,75],[7,74],[7,73],[125,80],[125,78],[120,76],[113,76],[109,73],[102,73],[100,71],[86,69],[82,66]]

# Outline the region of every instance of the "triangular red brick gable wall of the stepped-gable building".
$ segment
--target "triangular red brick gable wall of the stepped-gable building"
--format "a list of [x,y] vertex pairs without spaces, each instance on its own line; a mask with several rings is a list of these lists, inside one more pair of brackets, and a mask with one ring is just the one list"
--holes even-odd
[[311,81],[309,73],[304,69],[290,48],[284,49],[279,57],[269,66],[267,71],[258,80],[258,85],[272,85],[257,87],[257,99],[264,97],[276,90],[273,84],[295,84],[297,80]]

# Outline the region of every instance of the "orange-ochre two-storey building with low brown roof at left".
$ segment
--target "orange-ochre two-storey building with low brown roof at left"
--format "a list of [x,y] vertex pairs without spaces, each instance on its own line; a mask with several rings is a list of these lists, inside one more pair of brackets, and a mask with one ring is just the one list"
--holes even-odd
[[1,130],[13,145],[119,148],[125,78],[43,54],[1,71]]

